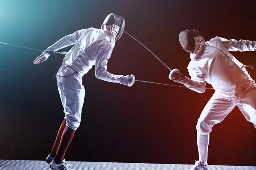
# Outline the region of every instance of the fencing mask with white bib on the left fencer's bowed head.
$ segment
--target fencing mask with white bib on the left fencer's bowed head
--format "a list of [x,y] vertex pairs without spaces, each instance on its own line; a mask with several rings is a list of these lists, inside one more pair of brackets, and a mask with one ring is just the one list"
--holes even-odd
[[119,15],[113,13],[108,14],[105,18],[102,29],[110,29],[111,34],[113,34],[115,40],[119,40],[125,29],[125,20]]

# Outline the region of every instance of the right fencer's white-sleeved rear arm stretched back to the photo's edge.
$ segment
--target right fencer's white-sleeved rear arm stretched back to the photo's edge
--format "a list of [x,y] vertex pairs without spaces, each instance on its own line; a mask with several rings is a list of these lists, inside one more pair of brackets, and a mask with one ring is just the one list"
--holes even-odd
[[227,51],[255,51],[256,50],[256,42],[249,40],[227,40],[226,38],[221,38],[221,41],[227,47]]

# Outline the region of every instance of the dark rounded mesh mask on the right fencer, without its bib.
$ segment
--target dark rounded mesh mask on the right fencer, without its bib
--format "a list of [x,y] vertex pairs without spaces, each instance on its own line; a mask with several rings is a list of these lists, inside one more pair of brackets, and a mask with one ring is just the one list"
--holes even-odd
[[200,32],[196,29],[186,29],[180,32],[179,40],[182,48],[189,53],[193,53],[195,50],[194,37],[201,36]]

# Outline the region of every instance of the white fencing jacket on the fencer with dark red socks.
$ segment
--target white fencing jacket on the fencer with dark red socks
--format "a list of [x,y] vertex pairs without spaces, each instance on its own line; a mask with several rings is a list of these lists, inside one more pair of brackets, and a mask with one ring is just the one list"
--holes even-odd
[[[49,46],[45,51],[58,51],[61,48],[74,45],[67,52],[62,64],[69,65],[81,76],[95,65],[95,75],[98,79],[120,83],[123,75],[114,75],[107,71],[108,59],[111,57],[111,33],[108,29],[81,29],[67,35]],[[49,54],[43,52],[45,57]]]

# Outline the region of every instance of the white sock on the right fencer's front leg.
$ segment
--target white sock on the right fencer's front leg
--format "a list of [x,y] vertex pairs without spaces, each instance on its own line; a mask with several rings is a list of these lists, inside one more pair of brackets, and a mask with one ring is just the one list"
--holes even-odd
[[197,132],[199,161],[201,161],[201,164],[203,165],[207,165],[209,136],[209,134],[201,135],[199,132]]

